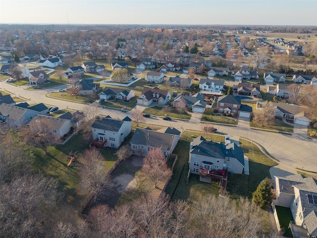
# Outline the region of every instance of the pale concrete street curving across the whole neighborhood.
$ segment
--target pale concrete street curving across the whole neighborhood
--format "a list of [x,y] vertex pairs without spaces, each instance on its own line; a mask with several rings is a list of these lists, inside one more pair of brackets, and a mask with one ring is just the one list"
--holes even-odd
[[[83,110],[85,104],[66,102],[58,99],[46,97],[49,92],[56,92],[61,86],[56,86],[45,90],[25,90],[26,86],[16,87],[12,84],[0,82],[0,90],[8,91],[16,96],[22,96],[29,99],[28,103],[43,102],[49,106],[57,106],[59,109]],[[137,106],[142,111],[141,106]],[[133,109],[135,110],[135,109]],[[112,118],[123,119],[131,116],[132,112],[122,113],[118,110],[100,109],[103,116],[110,115]],[[190,121],[171,120],[165,121],[160,118],[146,119],[149,124],[160,126],[173,126],[182,131],[181,128],[188,130],[200,130],[200,119],[197,116]],[[248,121],[239,119],[237,126],[216,125],[218,132],[232,136],[234,140],[238,137],[246,137],[263,145],[267,152],[280,161],[279,166],[283,166],[283,170],[291,173],[295,172],[295,168],[301,168],[308,171],[317,172],[317,140],[308,139],[306,130],[303,128],[295,128],[292,135],[274,133],[268,131],[250,129]],[[252,172],[251,172],[252,173]]]

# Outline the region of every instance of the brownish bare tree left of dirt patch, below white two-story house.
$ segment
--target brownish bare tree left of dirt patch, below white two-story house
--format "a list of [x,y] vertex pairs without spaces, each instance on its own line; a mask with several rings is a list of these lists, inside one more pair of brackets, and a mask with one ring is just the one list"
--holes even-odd
[[110,177],[106,176],[106,166],[103,162],[105,158],[96,148],[85,150],[82,158],[82,168],[79,172],[81,186],[96,199],[110,186]]

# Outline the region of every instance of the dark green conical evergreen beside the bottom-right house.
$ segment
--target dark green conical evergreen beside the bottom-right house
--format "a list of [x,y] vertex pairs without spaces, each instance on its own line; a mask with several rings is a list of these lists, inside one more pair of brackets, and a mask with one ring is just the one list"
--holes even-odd
[[264,208],[268,202],[272,201],[272,191],[267,177],[259,184],[257,190],[252,193],[255,203]]

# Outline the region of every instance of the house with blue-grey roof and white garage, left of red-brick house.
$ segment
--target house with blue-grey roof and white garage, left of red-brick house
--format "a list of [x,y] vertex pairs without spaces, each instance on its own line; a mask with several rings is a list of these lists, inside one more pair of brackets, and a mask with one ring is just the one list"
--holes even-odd
[[205,96],[201,93],[197,93],[193,96],[183,96],[179,94],[173,101],[173,106],[177,107],[177,104],[182,102],[185,104],[186,109],[190,109],[194,113],[204,113],[207,106],[204,100]]

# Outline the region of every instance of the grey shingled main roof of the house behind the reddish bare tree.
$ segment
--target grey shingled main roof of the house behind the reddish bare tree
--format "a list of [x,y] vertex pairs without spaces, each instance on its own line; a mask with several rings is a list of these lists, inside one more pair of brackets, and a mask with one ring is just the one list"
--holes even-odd
[[134,145],[145,145],[169,151],[175,139],[174,134],[162,133],[159,131],[137,128],[130,140]]

